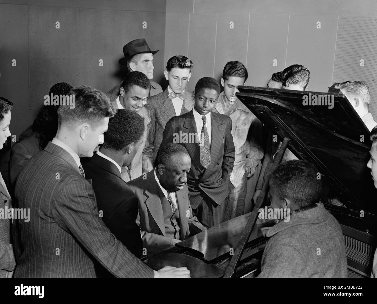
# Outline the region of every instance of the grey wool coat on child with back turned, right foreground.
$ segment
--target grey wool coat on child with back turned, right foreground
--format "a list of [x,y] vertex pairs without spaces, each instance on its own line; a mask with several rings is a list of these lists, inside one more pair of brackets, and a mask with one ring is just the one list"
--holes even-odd
[[269,240],[258,278],[347,277],[342,229],[322,203],[262,231]]

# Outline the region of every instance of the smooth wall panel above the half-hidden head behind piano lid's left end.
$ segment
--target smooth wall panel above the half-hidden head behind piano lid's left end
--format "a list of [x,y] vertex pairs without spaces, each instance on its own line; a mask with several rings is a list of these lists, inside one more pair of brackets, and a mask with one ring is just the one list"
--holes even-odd
[[250,15],[246,85],[267,86],[271,75],[285,68],[288,20],[288,15]]

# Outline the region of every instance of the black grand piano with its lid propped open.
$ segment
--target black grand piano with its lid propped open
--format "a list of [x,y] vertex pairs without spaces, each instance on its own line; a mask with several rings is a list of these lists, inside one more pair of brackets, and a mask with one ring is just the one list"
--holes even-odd
[[[338,89],[327,93],[251,86],[238,98],[282,142],[265,155],[263,189],[251,213],[231,219],[142,260],[153,269],[186,266],[193,278],[253,278],[266,245],[259,208],[268,205],[268,179],[289,148],[313,163],[323,182],[322,202],[339,221],[346,247],[348,277],[367,278],[376,248],[377,191],[369,159],[369,131]],[[308,102],[310,101],[310,102]]]

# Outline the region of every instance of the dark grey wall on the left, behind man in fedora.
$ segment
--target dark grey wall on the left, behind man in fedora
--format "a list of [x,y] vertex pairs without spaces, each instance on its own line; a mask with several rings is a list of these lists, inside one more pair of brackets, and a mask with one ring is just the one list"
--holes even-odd
[[161,83],[165,15],[164,0],[0,1],[0,96],[14,103],[11,133],[18,140],[57,82],[104,92],[120,83],[126,67],[118,60],[133,39],[160,50],[154,80]]

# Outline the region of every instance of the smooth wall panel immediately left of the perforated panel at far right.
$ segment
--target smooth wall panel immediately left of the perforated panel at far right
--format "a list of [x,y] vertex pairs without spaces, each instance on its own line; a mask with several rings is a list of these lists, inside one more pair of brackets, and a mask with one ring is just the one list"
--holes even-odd
[[327,92],[332,84],[338,17],[290,16],[286,66],[310,70],[311,91]]

